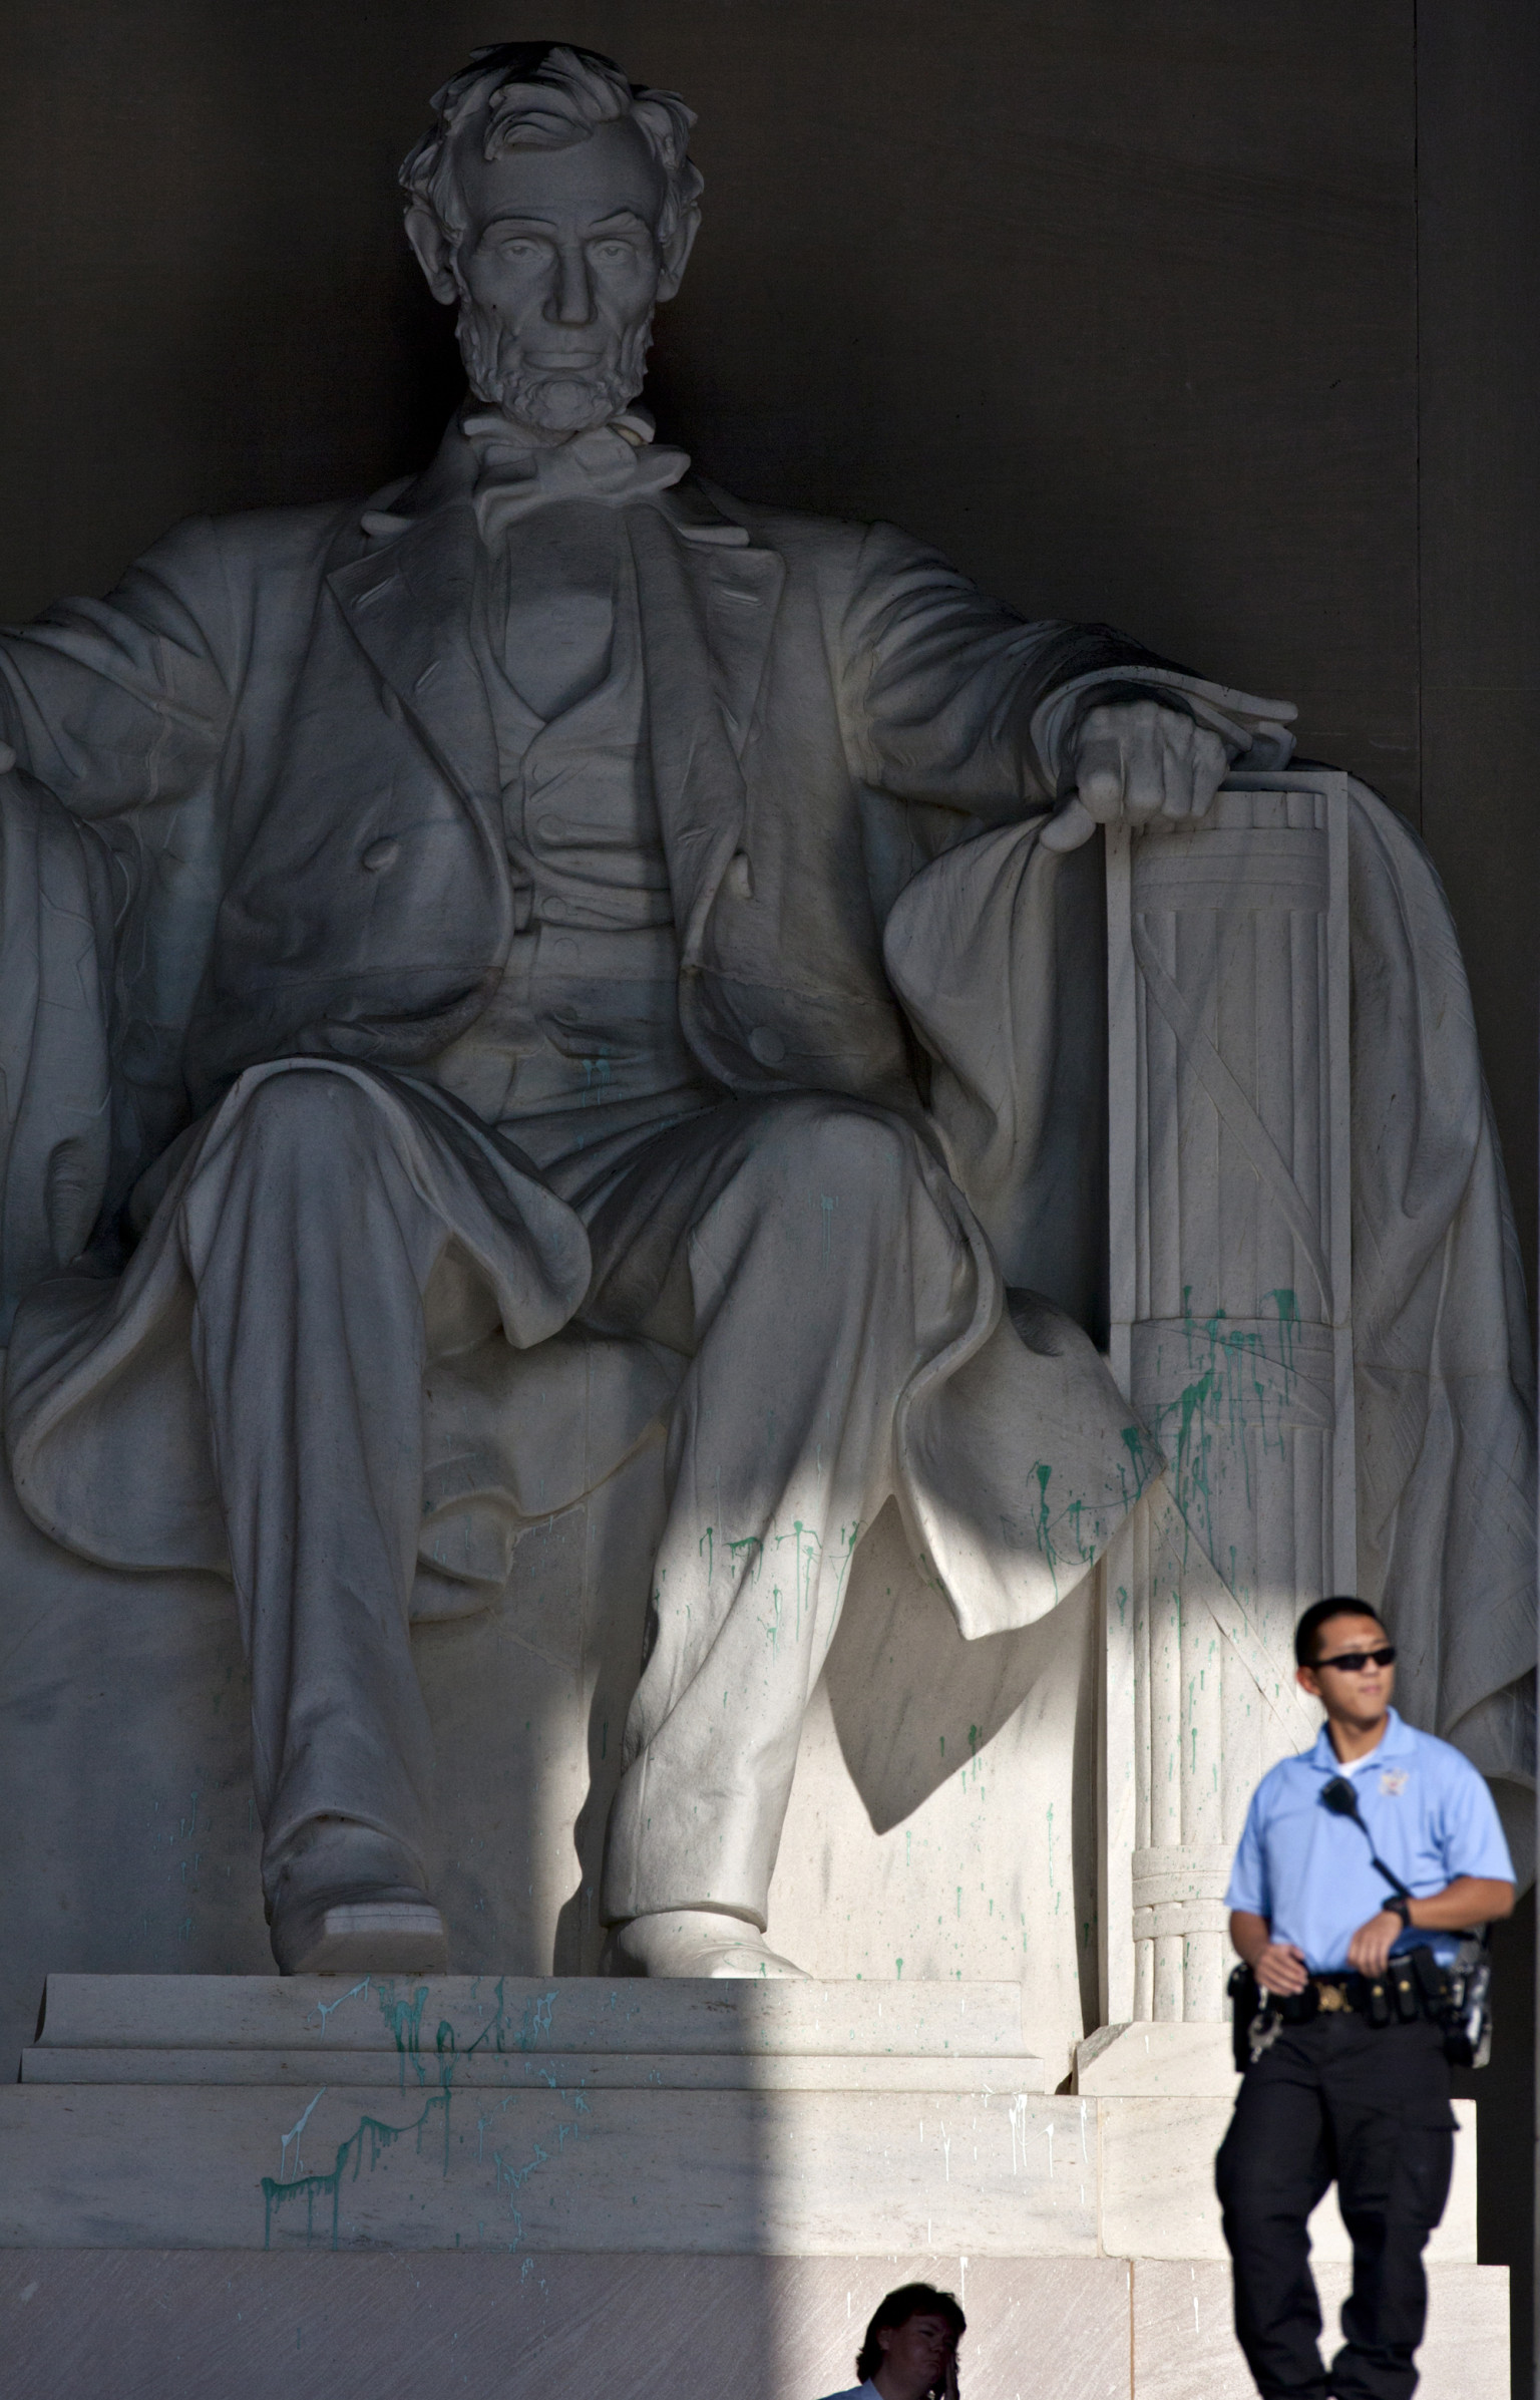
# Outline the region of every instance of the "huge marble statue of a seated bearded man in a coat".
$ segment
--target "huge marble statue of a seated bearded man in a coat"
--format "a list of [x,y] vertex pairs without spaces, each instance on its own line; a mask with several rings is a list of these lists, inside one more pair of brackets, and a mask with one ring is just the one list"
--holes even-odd
[[[285,1973],[446,1963],[410,1622],[657,1423],[621,1973],[799,1973],[768,1886],[890,1500],[979,1637],[1161,1476],[1091,1339],[1091,835],[1202,818],[1293,710],[660,444],[691,122],[480,50],[401,170],[470,386],[432,463],[182,523],[0,646],[10,1476],[77,1558],[230,1582]],[[1360,790],[1353,876],[1360,1589],[1418,1721],[1521,1783],[1502,1164]]]

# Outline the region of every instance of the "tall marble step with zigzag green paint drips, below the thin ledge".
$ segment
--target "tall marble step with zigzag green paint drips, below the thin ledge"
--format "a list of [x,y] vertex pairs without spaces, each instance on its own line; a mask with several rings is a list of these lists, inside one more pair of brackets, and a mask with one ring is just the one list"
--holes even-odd
[[0,2249],[1096,2256],[1096,2102],[0,2088]]

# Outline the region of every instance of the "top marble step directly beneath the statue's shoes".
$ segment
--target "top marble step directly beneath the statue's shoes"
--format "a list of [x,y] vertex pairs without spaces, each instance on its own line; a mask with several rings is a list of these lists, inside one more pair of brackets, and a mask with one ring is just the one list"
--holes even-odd
[[[1019,1982],[50,1975],[38,2050],[1031,2062]],[[1017,2064],[1010,2081],[1022,2086]]]

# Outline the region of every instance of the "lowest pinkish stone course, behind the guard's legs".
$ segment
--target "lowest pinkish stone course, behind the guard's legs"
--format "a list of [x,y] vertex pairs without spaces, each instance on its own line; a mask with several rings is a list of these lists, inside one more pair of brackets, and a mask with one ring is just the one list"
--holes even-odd
[[[818,2400],[883,2292],[962,2297],[969,2400],[1252,2400],[1211,2263],[5,2251],[5,2400]],[[1322,2268],[1329,2328],[1346,2292]],[[1420,2400],[1506,2400],[1506,2268],[1432,2268]],[[1329,2333],[1331,2338],[1331,2333]]]

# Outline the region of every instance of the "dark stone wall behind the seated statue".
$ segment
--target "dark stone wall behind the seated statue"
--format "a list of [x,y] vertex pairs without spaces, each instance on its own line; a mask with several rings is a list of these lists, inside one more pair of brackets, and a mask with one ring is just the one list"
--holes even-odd
[[[703,468],[1295,698],[1422,828],[1533,1260],[1530,0],[10,0],[0,614],[427,454],[456,365],[393,166],[470,43],[535,34],[700,110],[652,396]],[[1528,2131],[1485,2155],[1528,2390]]]

